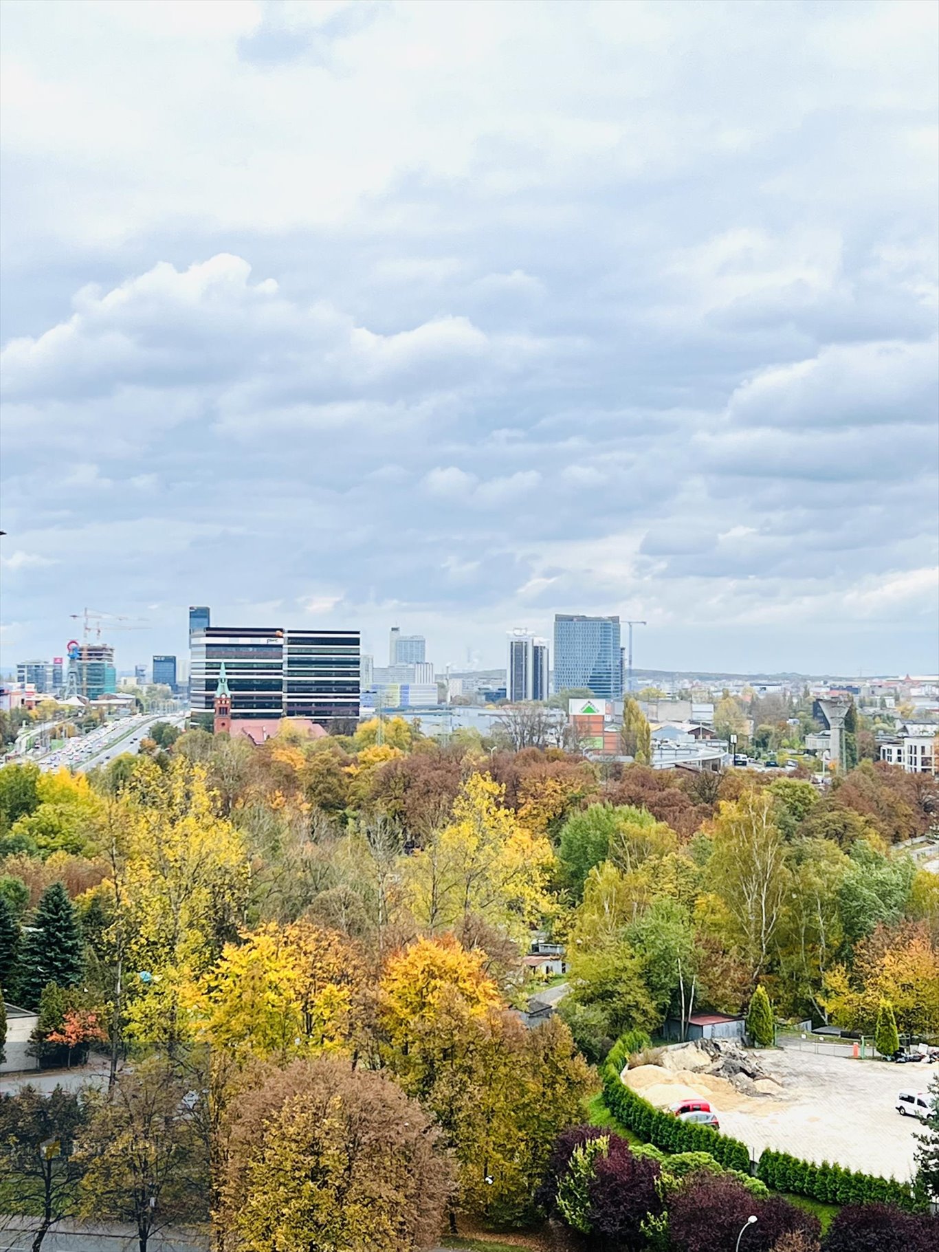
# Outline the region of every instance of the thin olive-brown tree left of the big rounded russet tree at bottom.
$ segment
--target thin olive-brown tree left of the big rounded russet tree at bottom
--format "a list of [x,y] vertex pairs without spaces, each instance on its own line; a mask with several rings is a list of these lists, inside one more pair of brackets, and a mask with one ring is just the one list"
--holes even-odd
[[120,1074],[109,1093],[91,1093],[79,1138],[79,1197],[86,1217],[130,1222],[139,1252],[172,1222],[205,1218],[208,1161],[172,1062],[151,1057]]

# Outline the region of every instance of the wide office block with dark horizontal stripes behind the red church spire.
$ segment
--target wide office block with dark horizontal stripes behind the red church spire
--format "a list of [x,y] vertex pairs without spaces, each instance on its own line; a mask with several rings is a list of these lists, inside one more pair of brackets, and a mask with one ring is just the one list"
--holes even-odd
[[208,626],[190,640],[189,690],[194,714],[214,710],[225,669],[232,722],[307,720],[331,730],[358,719],[359,634]]

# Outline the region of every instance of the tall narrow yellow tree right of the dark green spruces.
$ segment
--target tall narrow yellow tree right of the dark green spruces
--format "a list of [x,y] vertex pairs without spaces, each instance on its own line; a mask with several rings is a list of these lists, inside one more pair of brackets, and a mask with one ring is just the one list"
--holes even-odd
[[126,795],[120,926],[126,1033],[175,1050],[190,1033],[183,989],[244,924],[249,866],[238,830],[215,813],[205,769],[141,761]]

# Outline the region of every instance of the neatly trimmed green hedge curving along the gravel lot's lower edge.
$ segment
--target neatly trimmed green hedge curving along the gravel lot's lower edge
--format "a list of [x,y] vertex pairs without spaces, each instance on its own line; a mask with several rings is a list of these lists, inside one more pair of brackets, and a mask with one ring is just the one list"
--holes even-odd
[[[712,1131],[709,1126],[681,1122],[626,1087],[620,1078],[626,1058],[617,1048],[618,1044],[615,1044],[602,1068],[603,1101],[617,1121],[664,1152],[709,1152],[726,1169],[751,1173],[750,1149],[740,1139]],[[826,1204],[880,1203],[910,1212],[923,1207],[921,1197],[908,1183],[858,1173],[828,1161],[818,1166],[770,1148],[760,1156],[756,1177],[772,1191],[806,1196]]]

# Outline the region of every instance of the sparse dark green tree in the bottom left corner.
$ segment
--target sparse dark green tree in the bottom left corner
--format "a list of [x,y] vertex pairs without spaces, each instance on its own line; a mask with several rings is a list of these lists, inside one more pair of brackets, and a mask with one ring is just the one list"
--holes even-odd
[[88,1114],[81,1097],[56,1085],[49,1094],[24,1085],[0,1096],[0,1179],[30,1198],[31,1252],[39,1252],[54,1222],[75,1213],[81,1167],[74,1154]]

